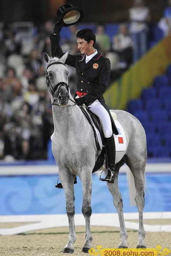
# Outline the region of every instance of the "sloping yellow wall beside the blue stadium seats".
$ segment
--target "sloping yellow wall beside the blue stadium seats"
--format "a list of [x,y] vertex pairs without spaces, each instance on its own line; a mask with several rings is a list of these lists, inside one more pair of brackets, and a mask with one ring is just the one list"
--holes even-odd
[[110,109],[125,109],[129,100],[138,98],[156,75],[164,74],[171,63],[171,35],[153,47],[104,94]]

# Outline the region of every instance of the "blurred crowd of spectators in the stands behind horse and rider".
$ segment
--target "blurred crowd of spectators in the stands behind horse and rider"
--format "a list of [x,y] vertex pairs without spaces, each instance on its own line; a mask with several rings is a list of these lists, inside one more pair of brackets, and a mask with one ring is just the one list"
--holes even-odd
[[[105,26],[96,26],[95,48],[111,60],[111,82],[135,63],[148,49],[150,11],[142,0],[129,10],[128,24],[119,25],[112,39]],[[164,25],[163,25],[164,24]],[[31,22],[2,24],[0,28],[0,159],[46,159],[53,119],[45,82],[42,54],[51,56],[50,33],[54,24],[40,27]],[[171,30],[171,0],[159,27],[166,36]],[[61,39],[63,51],[77,54],[77,26],[69,27],[69,40]],[[74,95],[75,71],[69,68],[70,90]]]

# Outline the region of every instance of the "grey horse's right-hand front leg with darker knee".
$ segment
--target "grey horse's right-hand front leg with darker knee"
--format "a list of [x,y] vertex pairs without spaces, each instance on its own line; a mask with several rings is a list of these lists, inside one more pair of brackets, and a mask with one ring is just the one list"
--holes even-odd
[[83,170],[79,175],[83,188],[83,206],[82,212],[85,218],[86,224],[86,236],[85,236],[85,245],[82,248],[82,252],[88,252],[88,250],[92,247],[92,233],[90,230],[90,217],[92,215],[92,207],[91,207],[91,195],[92,195],[92,171],[90,169]]

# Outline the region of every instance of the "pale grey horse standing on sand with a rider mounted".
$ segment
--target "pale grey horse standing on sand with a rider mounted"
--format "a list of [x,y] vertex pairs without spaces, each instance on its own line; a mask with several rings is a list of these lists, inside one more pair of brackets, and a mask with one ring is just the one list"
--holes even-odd
[[[74,178],[79,176],[83,188],[82,212],[85,217],[86,236],[83,252],[88,252],[93,240],[90,230],[92,170],[98,157],[98,150],[92,128],[81,109],[76,105],[69,91],[68,70],[64,64],[68,52],[62,58],[50,58],[43,54],[47,66],[47,84],[51,93],[54,133],[52,135],[52,152],[59,165],[59,177],[66,195],[66,211],[69,220],[69,240],[63,252],[74,252],[76,233],[74,226]],[[116,173],[114,183],[107,186],[112,194],[120,223],[121,241],[119,248],[128,248],[127,231],[123,218],[123,201],[117,186],[120,167],[126,163],[133,174],[136,196],[135,202],[139,213],[139,230],[137,248],[146,248],[143,227],[145,165],[147,146],[145,131],[141,123],[130,113],[112,110],[124,128],[126,150],[116,152]],[[132,183],[131,186],[134,186]]]

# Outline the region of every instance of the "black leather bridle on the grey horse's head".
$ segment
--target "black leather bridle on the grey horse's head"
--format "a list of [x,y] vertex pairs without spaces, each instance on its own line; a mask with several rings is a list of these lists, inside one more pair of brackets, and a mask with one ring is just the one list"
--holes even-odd
[[[47,70],[48,70],[48,68],[49,68],[50,66],[55,65],[55,64],[62,64],[62,65],[64,65],[64,66],[66,66],[65,63],[60,62],[60,61],[55,61],[55,62],[53,62],[53,63],[50,63],[50,64],[47,66],[47,69],[46,69],[46,83],[47,83],[48,91],[50,92],[50,94],[52,95],[52,97],[53,97],[53,99],[54,99],[54,101],[52,102],[52,105],[60,106],[59,104],[55,103],[55,102],[58,100],[58,98],[55,97],[55,91],[56,91],[57,89],[60,89],[61,86],[65,86],[66,89],[67,89],[67,91],[68,91],[68,93],[69,93],[69,85],[66,84],[66,82],[59,82],[59,83],[57,83],[57,84],[55,85],[55,87],[53,88],[52,84],[50,83],[50,79],[49,79],[49,77],[48,77],[48,72],[47,72]],[[71,100],[71,99],[69,98],[69,100]],[[74,102],[73,100],[71,100],[71,101]],[[77,105],[76,102],[74,102],[74,103],[75,103],[74,105]],[[69,105],[69,106],[67,106],[67,107],[72,107],[72,106],[74,106],[74,105]],[[60,106],[60,107],[61,107],[61,106]]]

